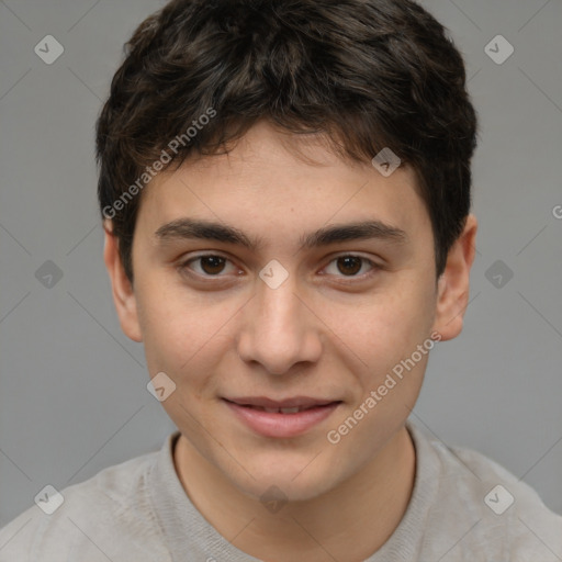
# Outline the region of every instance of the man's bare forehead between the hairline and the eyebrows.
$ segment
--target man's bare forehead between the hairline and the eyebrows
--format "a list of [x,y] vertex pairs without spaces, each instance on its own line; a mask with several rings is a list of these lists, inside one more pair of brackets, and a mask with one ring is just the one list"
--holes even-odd
[[379,234],[386,229],[387,239],[394,234],[397,241],[401,234],[407,239],[408,233],[429,227],[415,182],[411,168],[383,177],[370,162],[338,158],[322,138],[259,124],[228,154],[191,158],[153,179],[138,222],[156,237],[171,234],[167,225],[181,226],[186,217],[222,223],[233,227],[235,243],[247,234],[247,246],[249,237],[254,246],[286,236],[304,244],[312,231],[317,240],[316,231],[328,224],[378,222]]

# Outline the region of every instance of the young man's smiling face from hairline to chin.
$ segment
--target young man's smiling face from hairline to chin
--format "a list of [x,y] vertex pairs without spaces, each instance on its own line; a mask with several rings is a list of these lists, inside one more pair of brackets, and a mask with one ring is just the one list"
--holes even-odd
[[[155,178],[134,286],[111,248],[106,262],[123,329],[144,341],[150,378],[176,384],[162,406],[182,438],[248,495],[276,484],[306,499],[403,427],[430,335],[454,311],[412,170],[383,177],[321,143],[300,147],[306,159],[286,142],[261,123],[228,155]],[[265,409],[280,405],[301,412]]]

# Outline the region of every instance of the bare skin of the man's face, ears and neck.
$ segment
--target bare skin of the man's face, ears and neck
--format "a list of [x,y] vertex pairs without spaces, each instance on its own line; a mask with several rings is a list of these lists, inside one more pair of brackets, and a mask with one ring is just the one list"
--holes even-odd
[[[338,159],[321,140],[261,122],[228,155],[157,176],[142,194],[133,285],[105,224],[121,326],[144,342],[150,378],[164,371],[177,385],[162,406],[181,431],[173,451],[179,479],[221,535],[268,562],[360,561],[395,530],[415,477],[404,424],[428,355],[338,443],[326,434],[434,330],[441,340],[460,334],[474,259],[477,223],[469,215],[437,280],[413,171],[401,167],[385,178],[370,164]],[[299,153],[290,148],[296,146]],[[184,216],[227,223],[263,246],[155,235]],[[371,218],[405,231],[406,243],[299,244],[328,224]],[[222,269],[201,260],[186,266],[201,255],[227,261]],[[348,255],[380,269],[360,260],[350,274],[337,260]],[[272,259],[289,273],[274,290],[259,278]],[[305,434],[279,439],[255,434],[222,401],[245,395],[342,403]],[[273,484],[288,498],[277,513],[260,502]]]

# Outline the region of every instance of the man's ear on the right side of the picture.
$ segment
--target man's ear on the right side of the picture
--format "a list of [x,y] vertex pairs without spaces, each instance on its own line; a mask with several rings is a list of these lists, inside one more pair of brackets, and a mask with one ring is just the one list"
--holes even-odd
[[464,312],[469,305],[470,268],[476,250],[476,217],[469,214],[464,229],[449,250],[445,271],[439,277],[434,330],[441,335],[442,341],[453,339],[462,331]]

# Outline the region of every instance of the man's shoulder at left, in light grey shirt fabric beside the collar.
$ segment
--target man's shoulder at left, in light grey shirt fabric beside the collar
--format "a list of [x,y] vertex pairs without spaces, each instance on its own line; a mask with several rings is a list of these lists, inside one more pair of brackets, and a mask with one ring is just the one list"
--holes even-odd
[[157,456],[109,467],[59,495],[46,490],[42,507],[33,505],[0,530],[0,562],[168,562],[147,488]]

